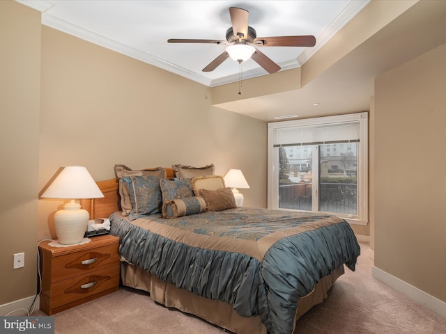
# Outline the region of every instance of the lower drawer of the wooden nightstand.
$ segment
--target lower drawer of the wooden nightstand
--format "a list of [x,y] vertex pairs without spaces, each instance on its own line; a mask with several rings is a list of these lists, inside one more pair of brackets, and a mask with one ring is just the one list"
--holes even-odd
[[49,291],[50,308],[56,309],[75,301],[89,299],[90,296],[100,294],[107,289],[118,289],[118,285],[118,266],[105,267],[89,271],[85,275],[60,280],[53,283]]

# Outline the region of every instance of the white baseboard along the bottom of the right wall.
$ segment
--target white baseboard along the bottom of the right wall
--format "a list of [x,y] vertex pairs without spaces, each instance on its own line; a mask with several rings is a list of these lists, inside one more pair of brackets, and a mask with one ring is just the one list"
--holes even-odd
[[371,268],[371,276],[446,319],[446,303],[444,301],[440,301],[440,299],[437,299],[430,294],[426,294],[426,292],[417,287],[414,287],[376,267]]

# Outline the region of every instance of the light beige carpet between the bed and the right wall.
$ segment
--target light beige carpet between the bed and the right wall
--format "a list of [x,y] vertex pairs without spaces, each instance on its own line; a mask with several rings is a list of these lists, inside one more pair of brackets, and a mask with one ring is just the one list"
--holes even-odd
[[369,245],[361,243],[356,271],[346,269],[296,325],[296,334],[443,334],[446,319],[371,277]]

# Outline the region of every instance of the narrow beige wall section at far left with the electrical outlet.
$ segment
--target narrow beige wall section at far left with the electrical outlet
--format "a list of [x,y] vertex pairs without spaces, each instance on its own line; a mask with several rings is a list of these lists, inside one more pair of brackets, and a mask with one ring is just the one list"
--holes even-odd
[[[0,1],[0,305],[36,293],[40,13]],[[13,269],[13,254],[25,267]]]

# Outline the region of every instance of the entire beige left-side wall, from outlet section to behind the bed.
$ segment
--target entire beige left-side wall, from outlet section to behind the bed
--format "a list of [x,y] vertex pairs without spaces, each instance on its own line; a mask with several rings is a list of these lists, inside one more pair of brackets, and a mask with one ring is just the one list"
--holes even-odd
[[[63,205],[38,193],[61,166],[95,180],[114,177],[114,164],[240,168],[244,204],[266,207],[265,122],[211,106],[206,86],[41,26],[19,3],[0,1],[0,31],[0,305],[36,293],[37,242],[55,237]],[[13,270],[20,252],[25,267]]]

